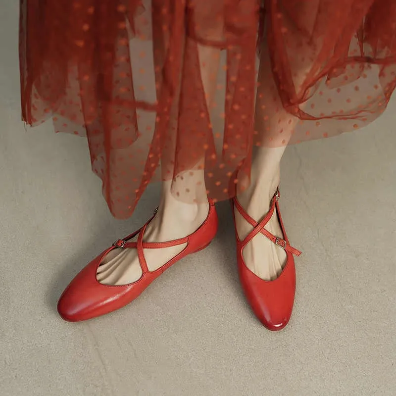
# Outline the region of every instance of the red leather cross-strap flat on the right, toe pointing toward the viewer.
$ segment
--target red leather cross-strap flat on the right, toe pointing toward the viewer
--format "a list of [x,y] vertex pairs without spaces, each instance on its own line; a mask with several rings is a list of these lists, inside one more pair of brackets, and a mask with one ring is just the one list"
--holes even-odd
[[[237,238],[238,272],[247,301],[253,309],[254,314],[268,330],[281,330],[289,322],[292,315],[296,292],[296,269],[293,255],[295,254],[299,256],[301,254],[299,250],[291,247],[289,244],[279,211],[279,197],[279,189],[277,189],[274,197],[272,198],[270,210],[258,223],[246,213],[236,198],[232,198],[231,200],[234,224],[235,206],[244,219],[254,227],[243,241],[239,239],[237,229],[235,228],[235,235]],[[285,239],[272,235],[264,228],[274,213],[274,210],[278,215]],[[244,247],[246,247],[247,243],[258,233],[263,234],[274,244],[286,250],[286,265],[283,268],[282,273],[274,281],[265,281],[259,278],[256,274],[250,271],[245,264],[242,251]]]

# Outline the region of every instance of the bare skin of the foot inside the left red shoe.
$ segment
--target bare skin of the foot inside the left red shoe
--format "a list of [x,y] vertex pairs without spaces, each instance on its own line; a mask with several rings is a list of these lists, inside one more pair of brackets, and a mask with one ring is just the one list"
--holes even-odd
[[[167,199],[160,204],[152,221],[148,224],[144,242],[168,242],[187,237],[205,221],[209,203],[188,204],[176,199]],[[128,242],[135,242],[135,239]],[[154,271],[180,253],[187,244],[158,249],[144,249],[149,271]],[[126,285],[138,281],[142,276],[137,249],[117,248],[111,250],[98,267],[97,279],[103,285]]]

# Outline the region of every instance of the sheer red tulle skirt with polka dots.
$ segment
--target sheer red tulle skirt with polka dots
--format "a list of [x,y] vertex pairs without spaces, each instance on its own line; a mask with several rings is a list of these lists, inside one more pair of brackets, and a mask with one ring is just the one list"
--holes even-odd
[[88,138],[111,213],[148,183],[230,198],[254,146],[367,125],[396,85],[395,0],[21,0],[22,117]]

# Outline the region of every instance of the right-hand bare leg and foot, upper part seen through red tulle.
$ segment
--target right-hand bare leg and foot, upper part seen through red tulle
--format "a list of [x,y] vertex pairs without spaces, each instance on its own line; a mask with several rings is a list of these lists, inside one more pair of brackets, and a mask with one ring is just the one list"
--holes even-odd
[[[266,49],[264,48],[263,51]],[[245,191],[240,191],[237,198],[247,213],[256,221],[261,220],[269,210],[271,198],[280,181],[280,161],[290,140],[297,119],[283,109],[276,89],[273,85],[271,67],[268,56],[264,54],[260,64],[258,91],[255,111],[255,129],[261,136],[256,147],[250,185]],[[274,147],[269,147],[273,145]],[[242,180],[241,185],[244,185]],[[235,209],[236,226],[240,239],[244,239],[252,227]],[[265,228],[280,238],[283,238],[281,227],[274,212]],[[247,267],[267,281],[276,279],[286,263],[286,252],[273,244],[262,234],[257,234],[244,248],[244,259]]]

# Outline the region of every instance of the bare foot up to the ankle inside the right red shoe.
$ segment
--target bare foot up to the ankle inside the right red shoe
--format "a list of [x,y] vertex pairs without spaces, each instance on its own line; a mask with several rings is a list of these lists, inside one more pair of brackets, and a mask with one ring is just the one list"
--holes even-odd
[[[250,185],[247,190],[237,194],[237,199],[251,218],[259,222],[269,211],[271,199],[279,184],[279,174],[271,181],[257,185]],[[253,227],[243,218],[234,207],[235,224],[238,237],[243,241]],[[282,238],[283,233],[276,210],[268,221],[265,229],[271,234]],[[286,264],[286,251],[261,233],[258,233],[243,249],[243,258],[247,268],[266,281],[275,280]]]

